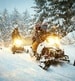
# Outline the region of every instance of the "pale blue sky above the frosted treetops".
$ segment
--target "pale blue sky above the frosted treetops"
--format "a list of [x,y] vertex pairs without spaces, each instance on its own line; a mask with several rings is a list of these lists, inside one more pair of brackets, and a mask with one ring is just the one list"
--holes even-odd
[[0,12],[5,8],[8,12],[12,12],[16,8],[20,13],[27,9],[30,14],[33,14],[34,10],[31,8],[33,5],[33,0],[0,0]]

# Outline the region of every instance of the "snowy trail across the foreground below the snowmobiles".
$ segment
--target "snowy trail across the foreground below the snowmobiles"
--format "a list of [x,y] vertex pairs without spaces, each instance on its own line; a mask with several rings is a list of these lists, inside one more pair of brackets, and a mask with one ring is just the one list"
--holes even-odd
[[64,64],[45,71],[28,54],[13,55],[4,48],[0,50],[0,81],[75,81],[75,67]]

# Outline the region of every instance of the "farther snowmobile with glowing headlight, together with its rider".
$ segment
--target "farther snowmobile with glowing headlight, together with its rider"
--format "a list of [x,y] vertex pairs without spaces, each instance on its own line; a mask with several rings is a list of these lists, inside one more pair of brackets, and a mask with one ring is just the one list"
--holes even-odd
[[23,46],[23,38],[19,33],[18,28],[15,28],[12,32],[12,52],[15,54],[15,52],[23,52],[24,46]]

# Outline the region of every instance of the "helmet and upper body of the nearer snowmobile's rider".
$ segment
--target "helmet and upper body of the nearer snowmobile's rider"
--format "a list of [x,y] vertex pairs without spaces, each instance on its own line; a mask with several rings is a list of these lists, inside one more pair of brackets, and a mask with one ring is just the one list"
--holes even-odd
[[41,37],[46,33],[47,33],[47,23],[44,23],[44,24],[38,23],[38,24],[36,24],[35,25],[35,33],[34,33],[34,36],[33,36],[33,42],[43,41]]

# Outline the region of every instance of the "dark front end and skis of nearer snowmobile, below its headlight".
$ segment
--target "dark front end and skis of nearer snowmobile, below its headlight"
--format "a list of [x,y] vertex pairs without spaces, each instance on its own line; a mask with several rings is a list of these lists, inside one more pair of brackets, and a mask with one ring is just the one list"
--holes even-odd
[[44,47],[38,58],[40,60],[39,66],[45,70],[47,70],[50,65],[55,65],[63,61],[70,62],[69,56],[65,55],[62,49],[52,47]]

